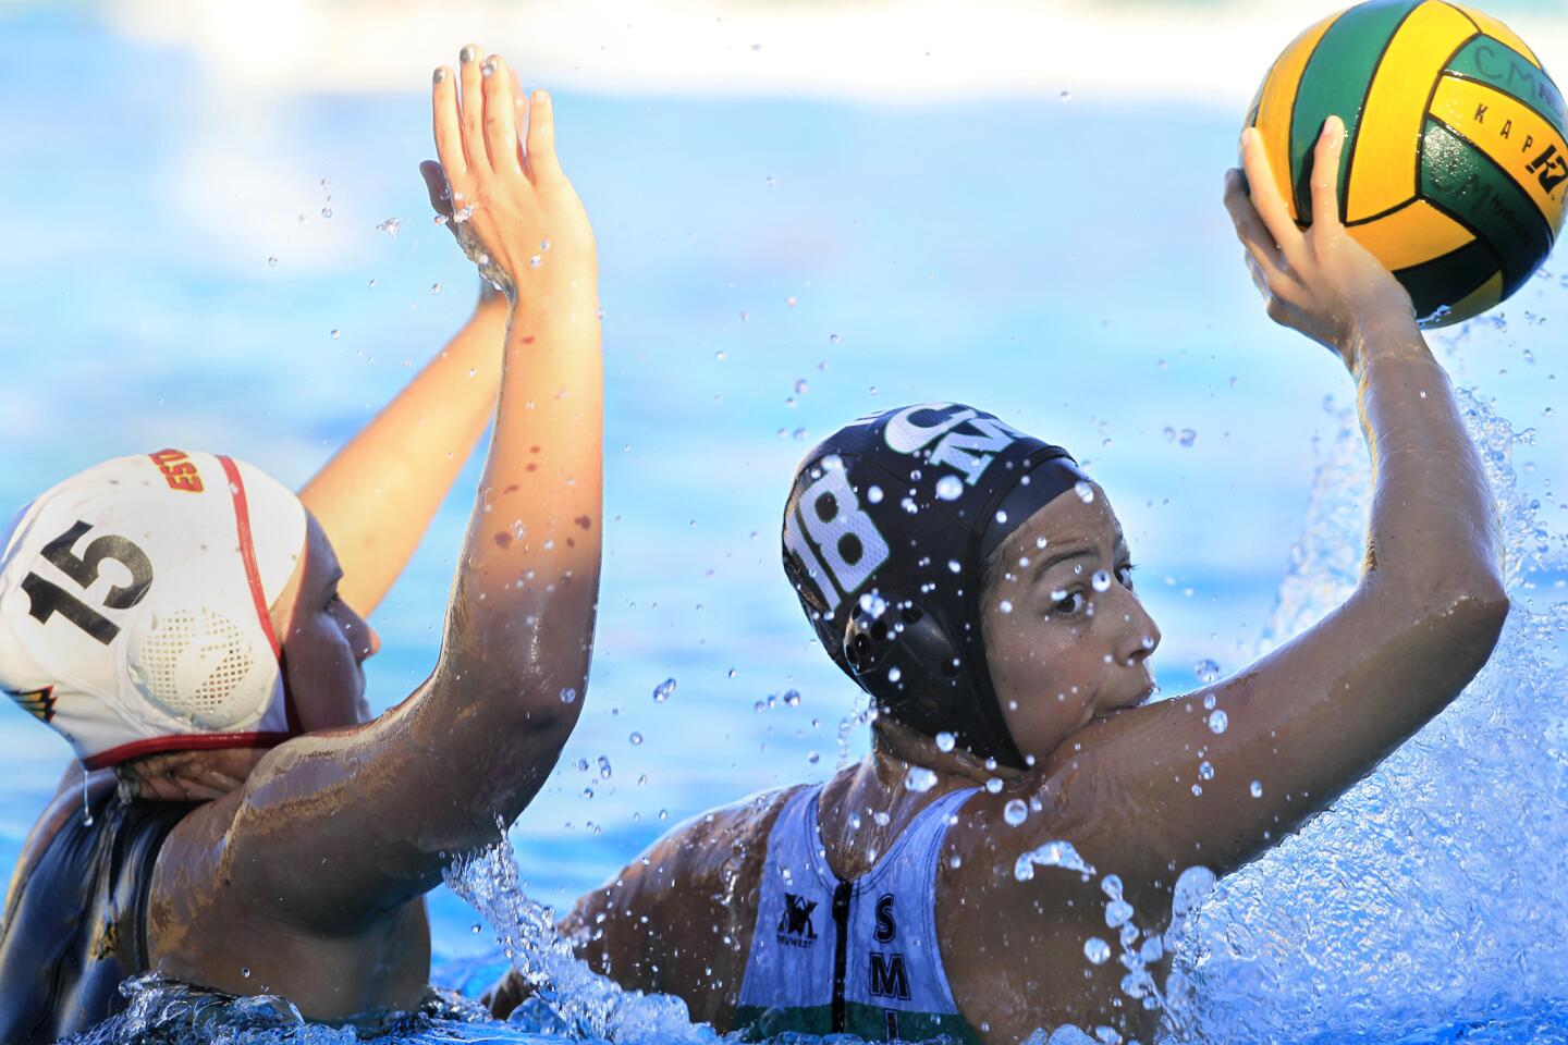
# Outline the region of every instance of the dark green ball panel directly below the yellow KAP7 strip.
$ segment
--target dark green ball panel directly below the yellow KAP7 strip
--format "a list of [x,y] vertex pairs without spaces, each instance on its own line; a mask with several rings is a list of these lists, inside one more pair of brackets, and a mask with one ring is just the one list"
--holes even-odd
[[1546,260],[1552,230],[1513,179],[1441,122],[1427,121],[1421,147],[1422,197],[1472,229],[1502,259],[1507,298]]

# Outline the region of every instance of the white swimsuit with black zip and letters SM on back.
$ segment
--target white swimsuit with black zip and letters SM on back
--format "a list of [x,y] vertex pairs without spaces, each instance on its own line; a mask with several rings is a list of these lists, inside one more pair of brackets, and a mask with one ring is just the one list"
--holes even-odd
[[867,1040],[975,1042],[936,942],[936,871],[958,807],[931,802],[864,876],[840,882],[817,823],[822,786],[789,797],[768,833],[757,923],[735,1026],[746,1037],[850,1032]]

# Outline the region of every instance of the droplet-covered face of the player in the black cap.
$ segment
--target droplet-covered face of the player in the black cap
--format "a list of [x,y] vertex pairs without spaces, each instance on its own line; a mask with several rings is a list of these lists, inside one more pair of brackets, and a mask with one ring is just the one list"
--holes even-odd
[[1013,743],[1044,758],[1096,716],[1154,692],[1160,630],[1132,591],[1121,523],[1096,484],[1013,531],[982,594],[986,664]]

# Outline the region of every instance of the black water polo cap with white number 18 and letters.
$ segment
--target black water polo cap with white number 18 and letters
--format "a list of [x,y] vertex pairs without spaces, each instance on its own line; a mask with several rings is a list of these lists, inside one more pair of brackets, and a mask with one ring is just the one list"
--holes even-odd
[[1088,476],[1062,447],[960,403],[820,442],[784,508],[784,572],[828,656],[881,713],[1021,768],[980,633],[985,561]]

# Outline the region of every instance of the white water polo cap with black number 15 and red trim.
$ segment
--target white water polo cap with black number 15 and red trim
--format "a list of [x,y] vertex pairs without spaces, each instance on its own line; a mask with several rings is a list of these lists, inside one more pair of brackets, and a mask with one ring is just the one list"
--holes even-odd
[[89,769],[298,733],[268,608],[304,555],[306,509],[205,453],[118,457],[0,536],[0,689]]

